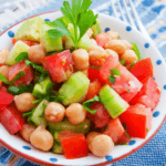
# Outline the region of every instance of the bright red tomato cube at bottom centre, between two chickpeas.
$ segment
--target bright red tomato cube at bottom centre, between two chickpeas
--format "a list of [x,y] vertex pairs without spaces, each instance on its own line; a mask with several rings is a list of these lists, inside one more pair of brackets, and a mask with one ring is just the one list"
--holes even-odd
[[68,159],[74,159],[87,156],[86,138],[82,133],[62,131],[59,138],[63,148],[64,156]]

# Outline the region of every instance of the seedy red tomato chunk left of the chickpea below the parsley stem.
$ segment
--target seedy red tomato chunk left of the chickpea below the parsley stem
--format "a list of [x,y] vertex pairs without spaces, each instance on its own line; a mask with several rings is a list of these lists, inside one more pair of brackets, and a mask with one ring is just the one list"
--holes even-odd
[[73,60],[70,50],[46,56],[41,62],[43,66],[49,70],[54,82],[64,82],[73,73]]

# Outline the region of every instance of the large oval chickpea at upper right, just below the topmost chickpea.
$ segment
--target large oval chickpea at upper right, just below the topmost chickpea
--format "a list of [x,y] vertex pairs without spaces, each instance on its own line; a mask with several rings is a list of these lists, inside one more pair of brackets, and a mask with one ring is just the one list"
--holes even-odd
[[126,45],[121,40],[111,40],[105,44],[105,49],[111,49],[117,54],[122,54],[125,52]]

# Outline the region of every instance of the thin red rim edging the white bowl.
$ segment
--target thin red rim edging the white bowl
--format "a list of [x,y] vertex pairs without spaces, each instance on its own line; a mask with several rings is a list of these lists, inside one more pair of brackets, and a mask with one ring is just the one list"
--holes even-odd
[[[38,17],[38,15],[46,14],[46,13],[58,12],[58,11],[60,11],[60,10],[42,12],[42,13],[39,13],[39,14],[34,14],[34,15],[32,15],[32,17],[25,18],[25,19],[23,19],[23,20],[17,22],[17,23],[14,23],[13,25],[9,27],[7,30],[4,30],[2,33],[0,33],[0,37],[1,37],[2,34],[4,34],[7,31],[9,31],[11,28],[15,27],[17,24],[19,24],[19,23],[21,23],[21,22],[23,22],[23,21],[25,21],[25,20],[29,20],[29,19],[34,18],[34,17]],[[106,15],[106,17],[107,17],[107,15]],[[115,18],[114,18],[114,19],[115,19]],[[149,41],[149,42],[151,42],[151,41]],[[162,56],[162,58],[163,58],[163,56]],[[111,162],[103,162],[103,163],[100,163],[100,164],[94,164],[93,166],[103,166],[103,165],[106,165],[106,164],[112,164],[112,163],[115,163],[115,162],[117,162],[117,160],[124,159],[125,157],[129,156],[131,154],[137,152],[139,148],[142,148],[145,144],[147,144],[147,143],[157,134],[157,132],[160,129],[160,127],[163,126],[163,124],[164,124],[165,121],[166,121],[166,115],[165,115],[165,117],[163,118],[163,121],[162,121],[160,125],[158,126],[158,128],[155,131],[155,133],[154,133],[148,139],[146,139],[142,145],[139,145],[139,146],[133,148],[131,152],[128,152],[128,153],[122,155],[121,157],[114,158],[114,159],[111,160]],[[49,166],[64,166],[64,165],[59,165],[59,164],[53,164],[53,163],[44,162],[44,160],[38,159],[38,158],[35,158],[35,157],[29,156],[29,155],[27,155],[27,154],[24,154],[24,153],[22,153],[22,152],[20,152],[20,151],[18,151],[18,149],[13,148],[12,146],[10,146],[9,144],[7,144],[7,143],[6,143],[4,141],[2,141],[1,138],[0,138],[0,143],[1,143],[3,146],[6,146],[9,151],[11,151],[12,153],[19,155],[20,157],[23,157],[24,159],[28,159],[28,160],[32,162],[32,163],[42,164],[42,165],[49,165]]]

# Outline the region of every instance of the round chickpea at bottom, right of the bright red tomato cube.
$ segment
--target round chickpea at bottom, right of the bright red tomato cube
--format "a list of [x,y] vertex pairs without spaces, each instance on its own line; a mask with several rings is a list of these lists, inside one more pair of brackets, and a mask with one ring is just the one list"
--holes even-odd
[[107,135],[96,135],[87,145],[90,151],[97,157],[105,157],[114,148],[112,138]]

